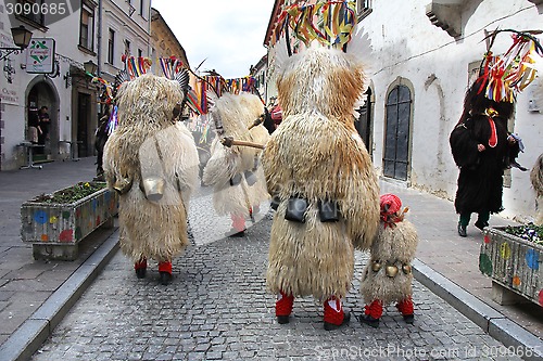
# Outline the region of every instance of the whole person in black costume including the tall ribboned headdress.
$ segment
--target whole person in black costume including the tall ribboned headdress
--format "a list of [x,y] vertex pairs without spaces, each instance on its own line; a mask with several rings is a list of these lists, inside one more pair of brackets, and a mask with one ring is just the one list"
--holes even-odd
[[[513,46],[503,56],[494,56],[490,48],[502,31],[513,33]],[[475,225],[482,230],[491,214],[503,210],[504,169],[527,170],[515,160],[523,145],[517,134],[507,131],[507,121],[516,94],[535,78],[534,57],[543,55],[543,48],[529,31],[496,30],[488,38],[491,42],[479,78],[467,90],[464,112],[450,136],[453,158],[460,169],[455,198],[460,236],[467,235],[472,212],[478,214]]]

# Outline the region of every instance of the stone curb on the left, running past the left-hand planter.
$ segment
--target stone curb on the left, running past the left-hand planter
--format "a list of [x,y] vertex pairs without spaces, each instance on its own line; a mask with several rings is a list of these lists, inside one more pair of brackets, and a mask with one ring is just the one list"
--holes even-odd
[[104,243],[0,346],[1,361],[24,361],[41,347],[118,249],[118,232]]

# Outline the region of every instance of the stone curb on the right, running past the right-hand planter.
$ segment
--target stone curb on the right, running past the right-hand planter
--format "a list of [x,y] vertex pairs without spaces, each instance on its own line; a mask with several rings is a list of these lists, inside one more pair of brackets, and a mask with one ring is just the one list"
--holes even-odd
[[419,259],[415,258],[412,266],[413,274],[418,282],[507,347],[507,350],[495,350],[496,352],[515,350],[516,354],[522,357],[523,360],[543,360],[542,343],[535,335],[510,321],[441,273],[435,272]]

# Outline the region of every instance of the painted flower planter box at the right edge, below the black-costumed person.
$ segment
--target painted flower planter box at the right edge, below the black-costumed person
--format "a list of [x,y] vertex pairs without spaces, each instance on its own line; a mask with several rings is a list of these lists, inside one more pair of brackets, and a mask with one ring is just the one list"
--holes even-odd
[[479,269],[492,278],[493,299],[502,305],[527,299],[543,307],[543,246],[504,230],[484,229],[479,256]]

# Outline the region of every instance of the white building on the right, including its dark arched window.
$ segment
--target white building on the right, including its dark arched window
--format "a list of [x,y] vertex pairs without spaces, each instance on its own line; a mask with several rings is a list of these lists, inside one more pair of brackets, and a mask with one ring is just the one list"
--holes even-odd
[[[280,12],[276,1],[265,44]],[[359,0],[359,27],[371,40],[367,56],[369,88],[356,128],[380,176],[453,201],[458,169],[449,136],[458,121],[465,92],[487,51],[487,31],[543,29],[542,0]],[[502,33],[492,46],[503,54],[512,46]],[[274,57],[268,48],[268,95],[276,92]],[[543,104],[535,104],[540,75],[517,98],[509,131],[526,145],[518,163],[531,168],[543,153]],[[541,108],[541,113],[539,111]],[[529,171],[507,170],[502,216],[533,220],[535,194]],[[387,190],[381,190],[387,192]],[[454,217],[454,215],[451,215]]]

